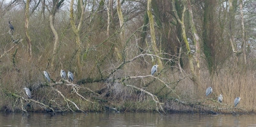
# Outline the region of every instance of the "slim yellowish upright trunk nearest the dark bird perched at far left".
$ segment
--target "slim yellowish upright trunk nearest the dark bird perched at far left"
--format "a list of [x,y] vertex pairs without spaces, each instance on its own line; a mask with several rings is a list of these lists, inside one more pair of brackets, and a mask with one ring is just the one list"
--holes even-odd
[[26,9],[25,9],[25,33],[26,33],[26,40],[28,42],[28,54],[29,58],[32,57],[32,45],[31,45],[31,39],[28,33],[28,24],[29,24],[29,3],[30,0],[26,0]]

